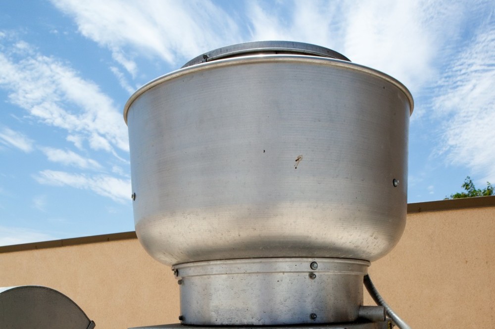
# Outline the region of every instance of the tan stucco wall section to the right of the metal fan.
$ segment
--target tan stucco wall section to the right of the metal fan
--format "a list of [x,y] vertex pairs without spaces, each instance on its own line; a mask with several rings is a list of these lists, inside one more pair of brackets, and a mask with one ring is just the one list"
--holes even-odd
[[495,328],[495,207],[408,214],[369,273],[413,329]]

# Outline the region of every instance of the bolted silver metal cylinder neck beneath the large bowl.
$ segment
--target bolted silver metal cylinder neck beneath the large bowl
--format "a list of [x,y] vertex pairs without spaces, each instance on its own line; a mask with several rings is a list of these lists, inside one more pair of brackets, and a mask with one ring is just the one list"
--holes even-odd
[[[312,262],[317,269],[311,268]],[[275,326],[355,321],[369,265],[362,260],[328,258],[177,265],[173,270],[181,282],[181,323]]]

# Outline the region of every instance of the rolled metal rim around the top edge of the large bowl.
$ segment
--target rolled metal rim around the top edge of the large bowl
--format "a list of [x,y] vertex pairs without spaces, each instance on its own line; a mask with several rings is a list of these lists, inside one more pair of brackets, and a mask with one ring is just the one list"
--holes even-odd
[[192,74],[200,71],[205,71],[209,69],[219,68],[223,66],[231,66],[231,65],[242,65],[242,64],[252,64],[252,63],[263,63],[263,62],[299,62],[299,63],[307,63],[307,64],[317,64],[317,65],[328,65],[338,68],[350,69],[354,71],[359,71],[364,74],[369,74],[395,85],[402,93],[405,94],[409,101],[410,111],[409,115],[412,114],[414,109],[414,100],[412,98],[409,90],[398,80],[391,77],[390,75],[380,72],[378,70],[369,68],[364,65],[359,65],[356,63],[335,59],[335,58],[327,58],[327,57],[317,57],[317,56],[307,56],[307,55],[287,55],[287,54],[278,54],[278,55],[251,55],[251,56],[241,56],[241,57],[230,57],[215,60],[212,62],[201,63],[189,67],[185,67],[168,74],[165,74],[161,77],[158,77],[154,80],[151,80],[146,85],[142,86],[138,89],[134,94],[129,97],[126,104],[124,105],[124,121],[127,124],[127,113],[129,112],[129,108],[132,103],[146,91],[151,88],[164,83],[166,81],[185,76],[187,74]]

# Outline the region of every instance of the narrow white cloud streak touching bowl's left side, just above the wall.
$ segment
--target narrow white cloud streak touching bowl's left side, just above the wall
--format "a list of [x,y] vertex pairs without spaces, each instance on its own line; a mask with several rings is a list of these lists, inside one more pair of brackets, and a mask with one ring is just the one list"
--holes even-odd
[[117,202],[130,200],[131,181],[112,176],[71,174],[62,171],[44,170],[35,179],[40,184],[53,186],[70,186],[79,189],[90,189],[99,195]]

